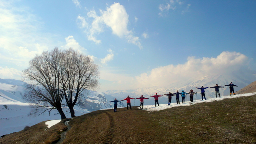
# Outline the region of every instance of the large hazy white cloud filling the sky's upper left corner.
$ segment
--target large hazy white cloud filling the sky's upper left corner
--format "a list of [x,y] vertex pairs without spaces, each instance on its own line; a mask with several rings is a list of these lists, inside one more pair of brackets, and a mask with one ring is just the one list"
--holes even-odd
[[[0,61],[25,67],[36,54],[48,50],[49,34],[42,34],[43,23],[27,7],[15,7],[12,1],[0,4]],[[6,65],[6,64],[5,64]]]

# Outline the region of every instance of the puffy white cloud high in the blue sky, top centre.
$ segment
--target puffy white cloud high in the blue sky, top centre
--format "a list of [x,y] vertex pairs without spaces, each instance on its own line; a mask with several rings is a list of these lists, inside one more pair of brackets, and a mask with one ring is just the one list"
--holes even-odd
[[[87,38],[95,43],[101,43],[101,40],[97,39],[97,35],[104,32],[104,29],[110,28],[112,34],[117,35],[120,38],[125,37],[127,42],[137,45],[142,49],[139,37],[133,36],[131,30],[128,30],[127,25],[129,23],[129,16],[123,5],[114,3],[107,7],[106,11],[100,10],[100,15],[97,15],[95,10],[91,10],[87,13],[88,18],[92,18],[93,21],[86,29]],[[79,21],[83,23],[85,20],[81,16],[78,17]]]

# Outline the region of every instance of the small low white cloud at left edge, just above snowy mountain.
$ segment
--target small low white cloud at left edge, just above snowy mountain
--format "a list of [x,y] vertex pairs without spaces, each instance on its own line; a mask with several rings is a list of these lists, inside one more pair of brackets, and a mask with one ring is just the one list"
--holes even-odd
[[16,79],[21,80],[22,71],[15,68],[1,67],[0,66],[0,78],[2,79]]

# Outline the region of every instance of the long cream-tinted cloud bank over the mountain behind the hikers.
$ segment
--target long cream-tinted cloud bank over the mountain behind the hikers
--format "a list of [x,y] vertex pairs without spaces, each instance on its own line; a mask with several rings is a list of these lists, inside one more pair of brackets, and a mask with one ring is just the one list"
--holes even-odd
[[216,58],[188,57],[185,64],[167,65],[152,69],[150,73],[143,73],[136,77],[138,86],[166,86],[166,84],[185,81],[191,77],[205,77],[210,75],[227,75],[231,71],[238,71],[248,64],[248,57],[237,52],[224,51]]

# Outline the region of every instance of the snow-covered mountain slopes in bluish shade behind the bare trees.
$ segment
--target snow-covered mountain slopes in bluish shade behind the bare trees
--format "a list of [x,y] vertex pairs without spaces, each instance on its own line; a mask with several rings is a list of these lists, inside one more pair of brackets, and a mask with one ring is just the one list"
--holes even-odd
[[[51,113],[33,115],[34,109],[30,103],[22,99],[26,83],[20,80],[0,79],[0,135],[21,131],[25,126],[33,126],[44,120],[60,119],[57,110]],[[95,91],[85,94],[84,105],[74,107],[75,115],[80,116],[94,110],[110,108],[113,96]],[[63,107],[67,118],[71,118],[68,107]]]

